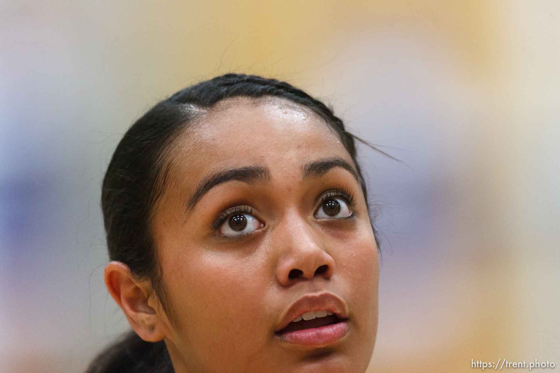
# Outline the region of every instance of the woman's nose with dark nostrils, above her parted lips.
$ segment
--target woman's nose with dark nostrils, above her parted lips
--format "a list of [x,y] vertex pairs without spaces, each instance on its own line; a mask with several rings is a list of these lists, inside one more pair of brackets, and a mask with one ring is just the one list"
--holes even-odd
[[282,286],[333,276],[334,259],[325,251],[326,240],[318,228],[303,219],[291,218],[278,226],[276,233],[274,241],[280,252],[276,277]]

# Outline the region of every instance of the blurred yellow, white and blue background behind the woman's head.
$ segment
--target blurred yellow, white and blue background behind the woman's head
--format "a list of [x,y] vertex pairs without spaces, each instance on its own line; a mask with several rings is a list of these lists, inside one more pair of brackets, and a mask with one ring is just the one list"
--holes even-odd
[[368,372],[560,365],[559,2],[4,0],[0,40],[0,371],[83,371],[128,328],[102,176],[143,112],[226,72],[306,89],[403,161],[359,148]]

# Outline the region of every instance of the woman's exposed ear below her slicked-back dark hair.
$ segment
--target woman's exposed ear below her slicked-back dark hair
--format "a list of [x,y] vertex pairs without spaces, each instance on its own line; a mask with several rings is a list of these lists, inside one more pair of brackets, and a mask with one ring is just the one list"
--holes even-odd
[[149,281],[135,279],[127,265],[113,261],[105,267],[105,285],[116,304],[123,310],[130,327],[140,338],[148,342],[157,342],[165,338],[161,311],[158,313],[148,304],[148,301],[154,303],[150,297],[155,296]]

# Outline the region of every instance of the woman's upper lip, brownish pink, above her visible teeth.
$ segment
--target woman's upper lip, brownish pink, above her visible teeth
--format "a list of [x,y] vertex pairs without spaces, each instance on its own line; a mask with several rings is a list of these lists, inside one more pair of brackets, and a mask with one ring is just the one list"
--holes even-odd
[[319,294],[306,294],[292,303],[282,314],[281,322],[278,323],[276,332],[286,328],[293,319],[311,311],[330,311],[339,319],[348,318],[348,305],[345,301],[330,292]]

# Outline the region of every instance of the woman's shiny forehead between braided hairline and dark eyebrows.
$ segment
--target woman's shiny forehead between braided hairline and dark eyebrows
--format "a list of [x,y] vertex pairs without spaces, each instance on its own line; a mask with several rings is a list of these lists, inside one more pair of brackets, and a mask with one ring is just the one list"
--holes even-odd
[[172,163],[189,173],[188,179],[224,166],[259,164],[273,169],[329,155],[353,163],[321,117],[276,97],[224,100],[195,121],[173,148]]

